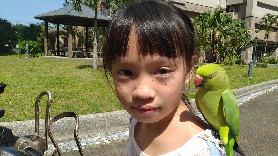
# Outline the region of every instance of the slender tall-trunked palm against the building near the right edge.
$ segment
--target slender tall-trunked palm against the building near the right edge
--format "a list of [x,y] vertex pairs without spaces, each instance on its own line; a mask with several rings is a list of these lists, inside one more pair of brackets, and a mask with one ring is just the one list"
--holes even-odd
[[[264,40],[266,39],[266,43],[265,43],[265,52],[266,52],[269,34],[274,29],[276,29],[276,31],[278,29],[278,15],[274,15],[274,14],[270,14],[270,13],[265,14],[259,22],[259,29],[261,30],[262,27],[265,27]],[[265,52],[264,52],[264,54],[265,54]],[[262,58],[262,53],[261,53],[261,58]]]

